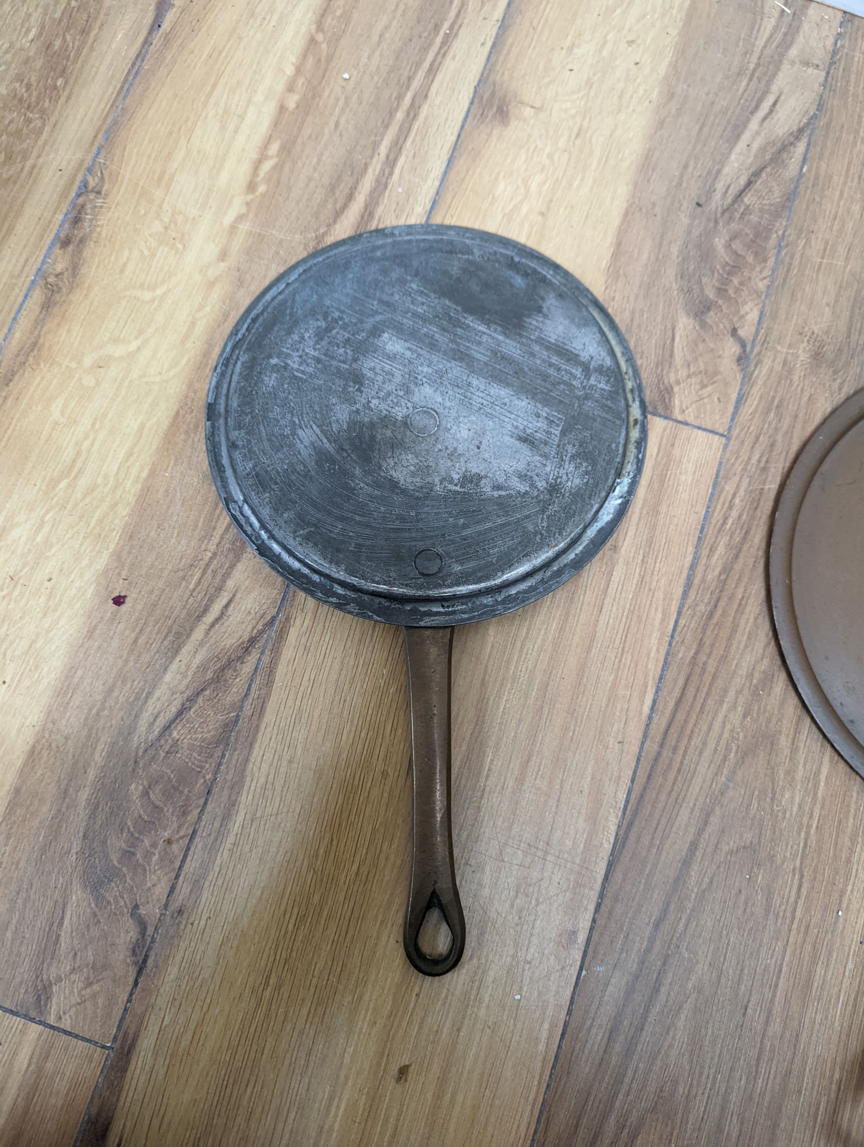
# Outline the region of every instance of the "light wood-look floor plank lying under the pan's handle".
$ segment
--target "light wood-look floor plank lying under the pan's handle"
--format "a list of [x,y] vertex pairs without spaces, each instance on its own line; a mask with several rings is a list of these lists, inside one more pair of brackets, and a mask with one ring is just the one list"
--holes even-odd
[[457,629],[459,967],[423,980],[402,950],[399,632],[294,595],[85,1142],[139,1025],[111,1144],[530,1136],[721,446],[660,420],[648,443],[585,570]]

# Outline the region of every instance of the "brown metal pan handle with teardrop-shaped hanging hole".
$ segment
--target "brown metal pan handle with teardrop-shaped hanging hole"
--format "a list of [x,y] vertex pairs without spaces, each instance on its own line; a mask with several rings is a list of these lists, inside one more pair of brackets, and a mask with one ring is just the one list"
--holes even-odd
[[[405,907],[405,953],[418,972],[442,976],[465,951],[450,828],[450,662],[453,627],[404,626],[414,770],[414,852]],[[439,959],[420,947],[427,913],[438,908],[453,937]]]

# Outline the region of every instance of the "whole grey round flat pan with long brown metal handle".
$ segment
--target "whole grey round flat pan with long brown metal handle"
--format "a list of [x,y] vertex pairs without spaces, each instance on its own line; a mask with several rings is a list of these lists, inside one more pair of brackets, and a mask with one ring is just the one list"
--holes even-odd
[[[403,626],[414,777],[405,952],[465,949],[450,824],[453,626],[543,596],[608,540],[646,439],[610,315],[537,251],[466,227],[366,232],[289,267],[213,370],[210,469],[304,593]],[[430,910],[449,951],[420,945]]]

